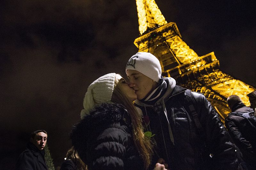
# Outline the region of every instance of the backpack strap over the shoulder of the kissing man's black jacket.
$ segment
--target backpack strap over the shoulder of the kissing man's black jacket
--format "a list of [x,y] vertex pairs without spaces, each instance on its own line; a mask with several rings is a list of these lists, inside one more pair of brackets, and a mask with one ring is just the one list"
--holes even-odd
[[[187,92],[188,93],[187,93]],[[185,97],[185,100],[186,100],[186,104],[188,105],[188,109],[190,110],[190,112],[191,112],[191,114],[192,114],[192,117],[193,117],[193,119],[194,119],[194,122],[195,122],[195,124],[196,124],[196,128],[197,128],[197,130],[199,131],[199,132],[202,132],[203,131],[203,127],[202,127],[202,125],[201,125],[201,123],[200,123],[200,121],[199,121],[199,118],[198,118],[198,114],[197,114],[197,112],[196,112],[196,109],[195,109],[195,107],[194,107],[194,105],[195,105],[195,99],[194,99],[194,96],[191,94],[191,91],[190,90],[186,90],[185,92],[184,92],[184,95],[186,96]]]

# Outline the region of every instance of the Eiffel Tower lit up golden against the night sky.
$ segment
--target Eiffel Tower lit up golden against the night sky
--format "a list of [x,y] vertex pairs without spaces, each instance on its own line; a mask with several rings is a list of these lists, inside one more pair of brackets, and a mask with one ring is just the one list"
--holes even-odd
[[154,0],[136,0],[136,4],[140,37],[134,44],[139,52],[158,58],[164,77],[173,77],[178,85],[203,93],[223,123],[231,111],[226,103],[228,96],[237,95],[250,105],[246,95],[255,89],[222,72],[214,52],[198,56],[181,39],[176,23],[167,23]]

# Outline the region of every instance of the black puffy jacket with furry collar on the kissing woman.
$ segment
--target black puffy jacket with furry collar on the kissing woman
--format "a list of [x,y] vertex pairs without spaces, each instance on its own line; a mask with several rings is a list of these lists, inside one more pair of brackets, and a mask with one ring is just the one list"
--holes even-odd
[[71,138],[89,170],[143,169],[131,119],[121,104],[100,104],[75,125]]

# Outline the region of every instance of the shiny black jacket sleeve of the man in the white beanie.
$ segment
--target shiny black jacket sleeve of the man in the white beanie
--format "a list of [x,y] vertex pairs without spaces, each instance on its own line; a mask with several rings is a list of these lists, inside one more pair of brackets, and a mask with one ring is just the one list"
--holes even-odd
[[203,126],[205,144],[205,165],[214,169],[236,169],[237,156],[235,146],[230,142],[230,137],[219,116],[206,97],[193,92],[196,100],[198,118]]

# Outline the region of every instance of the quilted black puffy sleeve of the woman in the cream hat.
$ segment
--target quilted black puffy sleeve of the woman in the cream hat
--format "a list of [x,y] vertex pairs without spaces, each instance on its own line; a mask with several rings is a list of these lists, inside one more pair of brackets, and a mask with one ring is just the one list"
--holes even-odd
[[[92,169],[124,169],[125,153],[128,149],[127,127],[115,123],[103,129],[92,144],[90,156]],[[91,168],[90,168],[91,169]]]

